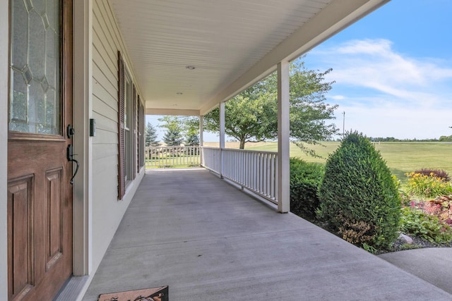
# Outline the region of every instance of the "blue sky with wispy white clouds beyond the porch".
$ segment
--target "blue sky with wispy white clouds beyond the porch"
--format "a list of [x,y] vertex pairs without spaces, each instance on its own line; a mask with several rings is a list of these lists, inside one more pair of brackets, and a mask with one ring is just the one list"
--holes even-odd
[[[369,137],[439,138],[452,135],[451,31],[451,0],[392,0],[304,61],[309,69],[333,68],[327,102],[339,105],[341,132],[345,111],[345,130]],[[157,125],[155,116],[147,121]]]

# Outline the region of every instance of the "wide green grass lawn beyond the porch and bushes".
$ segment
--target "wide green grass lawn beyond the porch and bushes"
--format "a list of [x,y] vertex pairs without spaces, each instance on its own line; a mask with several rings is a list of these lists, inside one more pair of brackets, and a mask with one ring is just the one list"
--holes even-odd
[[[331,154],[339,146],[340,142],[323,142],[324,146],[309,146],[315,149],[323,159],[314,158],[304,154],[296,145],[290,145],[290,156],[298,156],[309,162],[326,162],[328,154]],[[276,142],[268,142],[263,145],[250,146],[246,149],[259,149],[276,151]],[[452,143],[446,142],[381,142],[375,143],[375,148],[381,152],[391,172],[405,182],[405,173],[420,168],[444,169],[452,176]]]

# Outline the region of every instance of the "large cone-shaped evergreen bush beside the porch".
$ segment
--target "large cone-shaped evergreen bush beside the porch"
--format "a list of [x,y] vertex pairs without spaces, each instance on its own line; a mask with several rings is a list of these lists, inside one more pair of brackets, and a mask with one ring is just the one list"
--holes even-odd
[[398,237],[400,196],[395,181],[362,134],[348,133],[329,156],[319,199],[319,219],[355,245],[379,250]]

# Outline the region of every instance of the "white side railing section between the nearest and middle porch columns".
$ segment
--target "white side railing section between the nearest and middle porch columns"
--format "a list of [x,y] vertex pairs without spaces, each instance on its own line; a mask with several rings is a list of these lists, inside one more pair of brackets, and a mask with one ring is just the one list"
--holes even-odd
[[203,167],[278,204],[278,152],[213,147],[201,152]]

